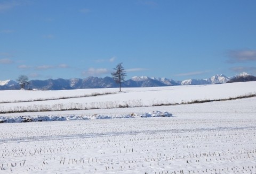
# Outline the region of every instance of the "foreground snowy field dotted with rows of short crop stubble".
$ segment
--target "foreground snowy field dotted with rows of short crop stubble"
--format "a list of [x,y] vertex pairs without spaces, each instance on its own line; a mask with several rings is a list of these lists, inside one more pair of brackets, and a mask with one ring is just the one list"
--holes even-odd
[[178,117],[1,124],[0,173],[255,173],[255,125]]

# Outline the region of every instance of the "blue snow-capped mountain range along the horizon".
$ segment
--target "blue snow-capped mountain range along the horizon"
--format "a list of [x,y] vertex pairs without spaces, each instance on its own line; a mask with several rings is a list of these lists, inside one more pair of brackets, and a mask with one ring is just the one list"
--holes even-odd
[[[189,79],[183,81],[174,81],[165,77],[147,77],[134,76],[122,83],[123,87],[154,87],[154,86],[173,86],[173,85],[204,85],[220,84],[227,82],[253,81],[256,77],[241,73],[233,77],[227,77],[223,74],[214,75],[209,79]],[[85,79],[48,79],[48,80],[31,80],[27,88],[42,90],[68,90],[68,89],[86,89],[86,88],[117,88],[118,84],[111,77],[87,77]],[[18,90],[20,86],[13,80],[0,81],[0,90]]]

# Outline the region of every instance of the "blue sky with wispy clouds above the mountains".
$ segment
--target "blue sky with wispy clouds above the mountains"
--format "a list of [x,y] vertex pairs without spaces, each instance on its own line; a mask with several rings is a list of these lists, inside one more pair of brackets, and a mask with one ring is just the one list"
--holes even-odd
[[0,1],[0,80],[256,75],[256,1]]

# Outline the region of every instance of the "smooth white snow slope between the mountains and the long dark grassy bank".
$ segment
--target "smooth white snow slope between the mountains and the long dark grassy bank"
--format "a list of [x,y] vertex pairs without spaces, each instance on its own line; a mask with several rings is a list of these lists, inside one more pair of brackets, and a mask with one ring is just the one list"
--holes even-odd
[[[238,97],[256,93],[256,82],[243,82],[235,84],[218,84],[218,85],[186,85],[186,86],[165,86],[155,88],[123,88],[122,92],[118,89],[83,89],[63,91],[0,91],[0,109],[2,111],[17,110],[25,108],[26,110],[45,108],[51,110],[76,109],[80,108],[113,108],[119,105],[129,107],[191,102],[194,100],[215,100]],[[204,92],[202,92],[204,91]],[[82,95],[91,95],[93,93],[113,93],[107,95],[97,95],[91,97],[79,97]],[[46,100],[70,98],[61,100]],[[16,101],[16,102],[13,102]],[[32,102],[18,102],[32,101]],[[151,110],[150,110],[151,111]]]

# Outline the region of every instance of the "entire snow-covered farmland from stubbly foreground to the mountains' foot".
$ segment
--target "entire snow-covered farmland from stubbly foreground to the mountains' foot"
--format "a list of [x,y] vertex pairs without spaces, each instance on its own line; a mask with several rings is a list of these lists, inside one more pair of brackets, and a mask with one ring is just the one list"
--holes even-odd
[[[102,107],[1,114],[1,119],[58,116],[70,121],[0,124],[0,173],[256,173],[256,97],[152,106],[255,94],[255,86],[0,91],[0,111],[74,103]],[[105,92],[113,93],[81,97]],[[134,107],[106,109],[103,103]],[[161,113],[171,117],[154,117]]]

